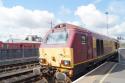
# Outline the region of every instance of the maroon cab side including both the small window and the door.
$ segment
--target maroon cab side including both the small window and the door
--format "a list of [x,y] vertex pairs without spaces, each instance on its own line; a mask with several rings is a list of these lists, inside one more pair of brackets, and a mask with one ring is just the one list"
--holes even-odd
[[73,40],[74,62],[79,63],[92,58],[91,35],[87,32],[77,32]]

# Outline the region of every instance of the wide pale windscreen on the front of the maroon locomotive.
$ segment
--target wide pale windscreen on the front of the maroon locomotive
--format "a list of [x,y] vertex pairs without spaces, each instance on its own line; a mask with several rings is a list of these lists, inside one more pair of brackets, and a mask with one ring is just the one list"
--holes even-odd
[[65,44],[67,39],[68,32],[66,30],[52,32],[46,37],[46,44]]

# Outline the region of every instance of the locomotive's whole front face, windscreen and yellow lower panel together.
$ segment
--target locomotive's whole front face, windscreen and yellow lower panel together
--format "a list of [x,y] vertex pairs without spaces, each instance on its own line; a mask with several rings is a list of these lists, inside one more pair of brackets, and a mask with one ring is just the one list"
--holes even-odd
[[52,29],[39,49],[40,65],[55,67],[59,72],[73,75],[73,48],[68,46],[70,37],[68,30]]

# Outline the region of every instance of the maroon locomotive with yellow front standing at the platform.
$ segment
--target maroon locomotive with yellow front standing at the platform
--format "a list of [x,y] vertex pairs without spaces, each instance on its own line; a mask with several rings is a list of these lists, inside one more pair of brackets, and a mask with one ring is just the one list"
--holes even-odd
[[43,39],[39,62],[43,67],[74,77],[88,66],[114,57],[118,47],[116,39],[62,23],[49,30]]

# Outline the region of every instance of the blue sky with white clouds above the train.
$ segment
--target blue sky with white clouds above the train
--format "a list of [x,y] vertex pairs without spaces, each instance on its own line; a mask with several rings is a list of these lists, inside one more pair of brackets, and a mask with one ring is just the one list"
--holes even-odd
[[53,26],[71,23],[114,38],[124,37],[124,4],[125,0],[0,0],[0,41],[26,35],[44,37],[51,22]]

